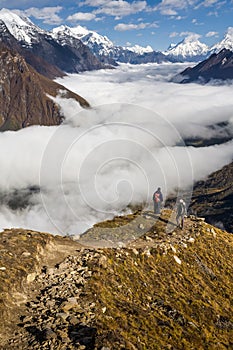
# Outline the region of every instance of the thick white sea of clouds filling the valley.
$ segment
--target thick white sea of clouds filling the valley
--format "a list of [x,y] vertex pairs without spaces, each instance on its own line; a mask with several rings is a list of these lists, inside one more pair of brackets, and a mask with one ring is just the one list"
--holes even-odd
[[[232,141],[194,148],[183,140],[233,134],[232,86],[171,82],[184,68],[120,65],[58,79],[92,108],[58,96],[62,125],[0,134],[0,227],[80,234],[134,205],[149,208],[158,186],[165,196],[190,189],[230,163]],[[24,209],[7,205],[32,186],[40,191]]]

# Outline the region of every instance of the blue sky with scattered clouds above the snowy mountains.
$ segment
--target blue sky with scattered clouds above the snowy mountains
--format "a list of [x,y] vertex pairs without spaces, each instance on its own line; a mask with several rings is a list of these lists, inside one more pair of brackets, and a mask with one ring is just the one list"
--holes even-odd
[[82,25],[115,44],[151,45],[165,50],[189,33],[212,45],[233,26],[233,0],[0,0],[44,29]]

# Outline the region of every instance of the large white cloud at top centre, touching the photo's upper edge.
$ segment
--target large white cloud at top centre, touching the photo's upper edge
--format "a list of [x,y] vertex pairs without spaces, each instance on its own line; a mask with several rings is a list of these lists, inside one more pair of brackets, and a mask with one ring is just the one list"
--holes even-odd
[[141,12],[147,7],[146,1],[126,0],[86,0],[82,5],[97,7],[94,13],[115,16],[117,19]]

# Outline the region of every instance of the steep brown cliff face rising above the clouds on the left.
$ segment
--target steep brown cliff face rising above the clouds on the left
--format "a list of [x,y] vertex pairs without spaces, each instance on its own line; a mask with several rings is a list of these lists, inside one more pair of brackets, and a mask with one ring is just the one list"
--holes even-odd
[[88,107],[80,96],[37,73],[18,53],[0,45],[0,130],[17,130],[29,125],[58,125],[63,116],[47,96],[59,90]]

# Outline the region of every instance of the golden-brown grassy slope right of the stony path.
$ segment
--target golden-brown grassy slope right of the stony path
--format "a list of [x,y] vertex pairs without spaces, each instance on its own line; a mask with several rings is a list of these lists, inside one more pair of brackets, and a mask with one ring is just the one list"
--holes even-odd
[[99,307],[97,344],[233,348],[233,236],[188,220],[184,232],[165,238],[164,225],[127,248],[105,250],[107,268],[97,269],[91,286]]

